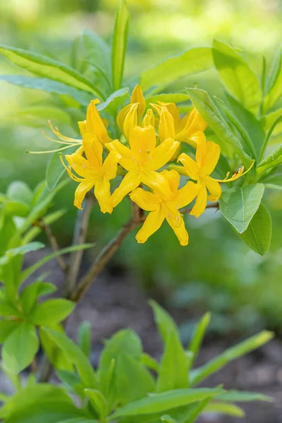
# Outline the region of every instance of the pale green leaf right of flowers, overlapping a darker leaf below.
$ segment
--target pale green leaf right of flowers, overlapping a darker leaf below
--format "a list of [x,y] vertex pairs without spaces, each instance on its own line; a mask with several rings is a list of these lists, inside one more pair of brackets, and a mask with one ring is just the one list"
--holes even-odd
[[222,192],[219,205],[223,216],[238,233],[243,233],[257,212],[264,194],[264,185],[257,183]]

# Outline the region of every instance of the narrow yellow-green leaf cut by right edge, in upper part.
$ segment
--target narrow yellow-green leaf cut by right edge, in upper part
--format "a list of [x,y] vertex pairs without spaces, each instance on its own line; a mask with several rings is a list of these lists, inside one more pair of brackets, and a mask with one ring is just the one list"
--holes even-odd
[[272,65],[269,80],[266,85],[266,96],[264,98],[264,112],[271,109],[282,94],[282,54],[278,51]]

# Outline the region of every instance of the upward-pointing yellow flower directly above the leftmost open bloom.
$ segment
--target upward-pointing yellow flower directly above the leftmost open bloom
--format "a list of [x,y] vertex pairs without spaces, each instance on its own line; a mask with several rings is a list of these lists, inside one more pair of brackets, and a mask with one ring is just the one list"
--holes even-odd
[[99,111],[97,111],[96,104],[99,104],[98,99],[90,102],[87,107],[86,120],[78,122],[78,126],[82,137],[86,133],[94,134],[97,136],[98,141],[104,145],[106,142],[111,142],[111,138],[107,133],[106,125],[99,115]]

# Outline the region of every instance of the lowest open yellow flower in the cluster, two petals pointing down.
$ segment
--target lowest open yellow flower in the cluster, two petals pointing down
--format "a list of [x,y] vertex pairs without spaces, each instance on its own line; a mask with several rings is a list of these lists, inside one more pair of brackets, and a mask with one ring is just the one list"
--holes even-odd
[[145,243],[149,236],[156,232],[164,219],[173,229],[181,245],[188,245],[189,236],[185,229],[183,216],[179,209],[187,206],[197,195],[197,187],[191,181],[178,190],[180,181],[179,173],[176,171],[163,171],[161,175],[166,178],[171,188],[170,197],[162,197],[157,190],[148,192],[137,188],[130,194],[133,200],[141,209],[149,212],[142,228],[136,235],[138,243]]

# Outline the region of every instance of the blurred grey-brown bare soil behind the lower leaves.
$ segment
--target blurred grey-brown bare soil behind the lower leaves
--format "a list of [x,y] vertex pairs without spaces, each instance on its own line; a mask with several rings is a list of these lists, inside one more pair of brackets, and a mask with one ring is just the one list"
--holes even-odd
[[[27,256],[30,265],[44,253],[37,252]],[[49,271],[48,281],[56,281],[61,288],[63,273],[57,262],[50,262],[44,271]],[[40,271],[42,274],[42,270]],[[38,275],[37,275],[38,276]],[[158,300],[156,298],[156,300]],[[176,310],[169,310],[178,324],[185,316]],[[186,316],[187,319],[187,316]],[[108,266],[78,304],[68,321],[67,332],[76,338],[78,325],[82,321],[92,323],[92,355],[94,366],[99,362],[103,340],[123,328],[134,329],[142,339],[147,353],[159,358],[162,351],[161,339],[154,324],[152,311],[147,298],[136,277],[122,267]],[[227,340],[209,336],[205,341],[197,365],[202,365],[220,354],[239,340]],[[259,348],[258,351],[228,364],[220,372],[205,381],[205,386],[223,384],[226,389],[258,391],[274,398],[274,403],[243,403],[246,417],[220,416],[214,413],[200,417],[199,423],[282,423],[282,342],[279,340]],[[0,378],[0,391],[11,391],[3,377]]]

